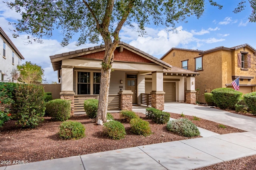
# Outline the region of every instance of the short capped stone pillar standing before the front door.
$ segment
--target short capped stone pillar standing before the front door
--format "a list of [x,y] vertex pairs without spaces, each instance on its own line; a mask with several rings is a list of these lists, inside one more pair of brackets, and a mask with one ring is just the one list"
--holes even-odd
[[118,92],[120,94],[120,109],[132,111],[132,94],[131,90],[122,90]]

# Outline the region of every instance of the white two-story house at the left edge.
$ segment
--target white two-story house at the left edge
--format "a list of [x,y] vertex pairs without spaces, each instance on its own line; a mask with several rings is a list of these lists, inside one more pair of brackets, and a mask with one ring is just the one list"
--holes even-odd
[[0,81],[13,82],[12,72],[24,57],[0,27]]

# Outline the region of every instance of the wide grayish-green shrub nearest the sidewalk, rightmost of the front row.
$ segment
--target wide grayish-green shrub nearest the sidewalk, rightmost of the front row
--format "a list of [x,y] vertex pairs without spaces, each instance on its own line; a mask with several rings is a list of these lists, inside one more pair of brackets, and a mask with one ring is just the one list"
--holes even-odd
[[183,118],[168,121],[166,129],[184,137],[194,137],[200,135],[196,125],[192,123],[192,121]]

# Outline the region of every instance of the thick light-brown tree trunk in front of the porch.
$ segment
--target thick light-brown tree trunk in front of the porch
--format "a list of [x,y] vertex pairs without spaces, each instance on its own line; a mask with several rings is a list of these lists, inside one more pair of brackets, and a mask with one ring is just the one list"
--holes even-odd
[[118,43],[119,41],[114,41],[114,43],[112,43],[111,41],[109,43],[106,43],[105,41],[105,54],[101,67],[100,95],[96,122],[98,120],[106,122],[108,111],[108,92],[110,86],[110,74],[112,70],[112,64],[114,61],[114,51]]

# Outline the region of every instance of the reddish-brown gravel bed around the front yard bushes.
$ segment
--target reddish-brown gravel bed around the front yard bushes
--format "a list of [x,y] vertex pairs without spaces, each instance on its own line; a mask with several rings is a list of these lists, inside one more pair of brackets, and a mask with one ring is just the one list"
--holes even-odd
[[[121,121],[124,124],[127,133],[125,139],[108,139],[104,133],[102,133],[102,126],[96,125],[87,115],[78,115],[70,118],[70,120],[81,122],[86,128],[86,137],[78,140],[60,139],[57,133],[61,122],[52,121],[50,117],[45,117],[44,122],[35,129],[17,127],[15,125],[15,121],[10,120],[0,128],[0,160],[10,160],[11,162],[16,160],[36,162],[128,147],[150,145],[154,143],[190,139],[167,131],[166,125],[158,125],[154,123],[150,119],[146,118],[143,113],[136,114],[150,123],[150,128],[153,134],[148,137],[134,135],[130,132],[130,124],[124,123],[120,118],[119,113],[111,114],[114,116],[115,120]],[[180,114],[176,113],[170,113],[170,117],[175,119],[184,118],[181,117]],[[193,116],[185,115],[185,117],[190,120],[194,119]],[[200,121],[192,120],[192,122],[198,127],[202,127],[219,134],[244,132],[240,129],[226,125],[226,128],[221,128],[219,123],[205,119],[200,119]],[[252,159],[253,158],[255,160],[255,156],[252,157]],[[248,160],[248,158],[246,159]],[[0,166],[8,166],[8,164],[0,164]]]

